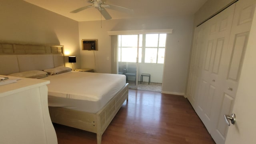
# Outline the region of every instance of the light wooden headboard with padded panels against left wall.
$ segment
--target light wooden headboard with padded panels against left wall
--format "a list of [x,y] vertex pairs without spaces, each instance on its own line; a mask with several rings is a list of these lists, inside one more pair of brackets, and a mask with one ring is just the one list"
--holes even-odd
[[0,74],[65,66],[64,46],[0,41]]

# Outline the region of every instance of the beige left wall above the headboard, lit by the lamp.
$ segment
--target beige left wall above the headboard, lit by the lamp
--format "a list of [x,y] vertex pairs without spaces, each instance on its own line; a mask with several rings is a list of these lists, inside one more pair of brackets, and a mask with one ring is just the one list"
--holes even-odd
[[80,67],[78,22],[23,0],[0,0],[0,18],[0,40],[64,45]]

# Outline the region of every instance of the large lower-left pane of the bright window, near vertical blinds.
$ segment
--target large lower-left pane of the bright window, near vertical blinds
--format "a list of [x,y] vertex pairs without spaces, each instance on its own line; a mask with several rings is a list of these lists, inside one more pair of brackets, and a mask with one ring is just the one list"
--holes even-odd
[[122,62],[136,62],[137,48],[122,48]]

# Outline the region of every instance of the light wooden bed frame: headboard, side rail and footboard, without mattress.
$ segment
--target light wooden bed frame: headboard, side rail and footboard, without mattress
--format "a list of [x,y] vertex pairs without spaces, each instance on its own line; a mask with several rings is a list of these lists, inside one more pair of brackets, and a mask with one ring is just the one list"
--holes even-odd
[[[64,66],[63,49],[61,45],[0,41],[0,64],[4,65],[0,74]],[[128,83],[96,114],[50,106],[49,112],[52,122],[96,133],[97,144],[101,144],[102,134],[125,100],[128,100]]]

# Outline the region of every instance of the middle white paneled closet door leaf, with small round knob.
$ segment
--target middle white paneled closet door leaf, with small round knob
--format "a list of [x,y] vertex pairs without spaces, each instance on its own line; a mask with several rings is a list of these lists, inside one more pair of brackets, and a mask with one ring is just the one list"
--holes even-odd
[[213,101],[220,94],[224,71],[223,58],[226,56],[226,49],[228,48],[234,8],[234,5],[230,6],[205,23],[208,31],[204,46],[202,77],[196,112],[208,132],[212,131],[214,115],[219,112]]

